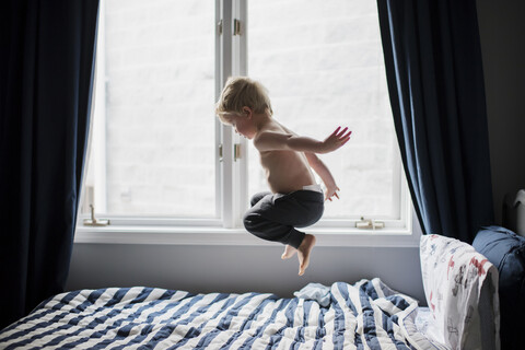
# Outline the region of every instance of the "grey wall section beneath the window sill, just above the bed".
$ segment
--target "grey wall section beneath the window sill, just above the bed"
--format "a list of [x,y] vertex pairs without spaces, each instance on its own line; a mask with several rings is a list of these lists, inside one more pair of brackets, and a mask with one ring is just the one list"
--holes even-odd
[[292,296],[308,282],[330,285],[380,277],[424,300],[417,248],[315,247],[298,276],[298,259],[282,247],[75,244],[68,290],[148,285],[190,292],[271,292]]

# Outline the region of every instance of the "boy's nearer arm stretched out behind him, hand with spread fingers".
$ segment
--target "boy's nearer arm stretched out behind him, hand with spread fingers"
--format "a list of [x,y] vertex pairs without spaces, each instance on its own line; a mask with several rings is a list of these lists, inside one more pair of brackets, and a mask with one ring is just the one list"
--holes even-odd
[[260,151],[290,150],[311,153],[328,153],[342,147],[350,140],[352,131],[348,128],[340,130],[337,128],[324,141],[318,141],[308,137],[296,136],[294,133],[282,133],[275,131],[265,131],[254,140],[254,145]]

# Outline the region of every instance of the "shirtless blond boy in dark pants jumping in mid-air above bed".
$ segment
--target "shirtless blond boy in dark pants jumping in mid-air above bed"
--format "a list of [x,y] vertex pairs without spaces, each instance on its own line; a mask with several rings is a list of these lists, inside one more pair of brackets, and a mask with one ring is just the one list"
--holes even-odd
[[[325,200],[339,198],[334,176],[316,153],[342,147],[352,131],[339,127],[324,141],[298,136],[272,117],[266,89],[245,77],[228,80],[215,113],[223,124],[253,140],[271,190],[252,198],[252,208],[244,214],[244,226],[262,240],[284,244],[282,259],[298,253],[299,275],[304,275],[315,236],[296,228],[316,223],[323,215]],[[325,184],[324,195],[312,170]]]

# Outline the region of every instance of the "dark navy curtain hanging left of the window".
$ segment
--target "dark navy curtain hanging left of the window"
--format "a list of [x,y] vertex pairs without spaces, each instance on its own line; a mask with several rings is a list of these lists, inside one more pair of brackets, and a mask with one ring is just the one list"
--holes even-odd
[[97,11],[98,0],[0,4],[0,329],[66,284]]

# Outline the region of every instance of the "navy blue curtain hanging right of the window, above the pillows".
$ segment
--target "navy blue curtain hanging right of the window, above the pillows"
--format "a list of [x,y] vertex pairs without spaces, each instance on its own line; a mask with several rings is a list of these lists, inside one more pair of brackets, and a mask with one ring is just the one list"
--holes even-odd
[[394,122],[424,233],[493,222],[475,0],[377,0]]

